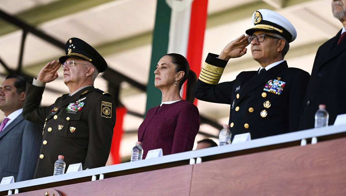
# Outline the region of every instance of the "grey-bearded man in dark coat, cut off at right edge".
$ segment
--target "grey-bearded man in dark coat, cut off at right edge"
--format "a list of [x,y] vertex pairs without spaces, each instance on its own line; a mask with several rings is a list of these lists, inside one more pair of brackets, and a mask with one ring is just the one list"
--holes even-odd
[[301,130],[314,128],[319,104],[326,105],[328,124],[334,124],[338,114],[346,113],[343,81],[346,73],[346,0],[332,0],[331,7],[334,17],[340,20],[343,28],[317,50],[303,102]]

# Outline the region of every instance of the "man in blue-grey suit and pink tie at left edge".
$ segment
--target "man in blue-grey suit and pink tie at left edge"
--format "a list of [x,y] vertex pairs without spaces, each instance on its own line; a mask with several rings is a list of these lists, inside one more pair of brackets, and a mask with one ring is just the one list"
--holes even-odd
[[0,110],[5,119],[0,125],[0,181],[14,176],[15,181],[34,178],[42,142],[42,125],[22,116],[27,79],[8,76],[0,86]]

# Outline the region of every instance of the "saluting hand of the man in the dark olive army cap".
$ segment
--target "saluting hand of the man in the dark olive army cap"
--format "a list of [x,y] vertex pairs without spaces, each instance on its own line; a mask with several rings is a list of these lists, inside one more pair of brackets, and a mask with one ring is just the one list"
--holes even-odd
[[37,81],[39,82],[52,82],[58,77],[58,69],[61,66],[59,61],[53,60],[52,62],[47,63],[38,73]]

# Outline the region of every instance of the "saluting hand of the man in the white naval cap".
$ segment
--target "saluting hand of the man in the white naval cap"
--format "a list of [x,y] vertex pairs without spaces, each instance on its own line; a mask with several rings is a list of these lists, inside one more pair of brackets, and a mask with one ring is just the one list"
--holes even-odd
[[231,41],[227,46],[222,50],[218,58],[229,60],[230,58],[238,58],[246,54],[247,48],[249,45],[247,40],[249,36],[241,35],[237,39]]

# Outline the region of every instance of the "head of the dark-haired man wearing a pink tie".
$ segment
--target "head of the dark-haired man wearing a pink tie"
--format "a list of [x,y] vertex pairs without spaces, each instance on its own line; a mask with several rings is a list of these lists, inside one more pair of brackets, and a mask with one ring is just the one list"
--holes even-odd
[[23,76],[10,75],[1,84],[0,110],[5,116],[23,108],[27,81]]

